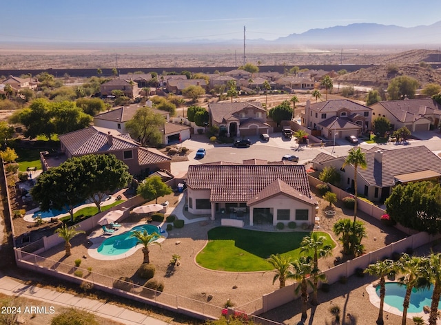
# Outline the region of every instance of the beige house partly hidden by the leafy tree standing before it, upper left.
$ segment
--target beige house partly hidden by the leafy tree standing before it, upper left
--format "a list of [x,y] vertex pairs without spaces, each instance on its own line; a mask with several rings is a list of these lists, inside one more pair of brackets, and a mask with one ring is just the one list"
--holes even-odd
[[[150,103],[150,105],[148,105]],[[147,106],[151,107],[152,102],[147,101]],[[138,109],[139,105],[130,105],[112,109],[110,112],[104,112],[94,116],[94,125],[97,127],[105,127],[107,129],[114,129],[123,134],[127,133],[125,123],[128,120],[132,120]],[[161,127],[163,145],[169,145],[170,143],[176,143],[178,141],[187,140],[190,138],[190,127],[186,125],[170,123],[169,112],[161,111],[160,109],[152,108],[152,112],[161,114],[165,118],[165,123]]]

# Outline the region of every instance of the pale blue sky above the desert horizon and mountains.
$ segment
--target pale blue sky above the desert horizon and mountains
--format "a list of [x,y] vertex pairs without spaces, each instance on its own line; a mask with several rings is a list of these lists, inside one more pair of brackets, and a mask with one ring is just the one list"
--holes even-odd
[[0,42],[274,40],[351,23],[414,27],[441,20],[438,0],[2,1]]

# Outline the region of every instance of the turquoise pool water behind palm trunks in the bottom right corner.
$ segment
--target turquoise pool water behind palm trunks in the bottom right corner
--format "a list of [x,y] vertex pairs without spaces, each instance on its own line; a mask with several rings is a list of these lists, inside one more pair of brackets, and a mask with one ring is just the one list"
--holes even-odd
[[[380,286],[377,286],[376,293],[380,297]],[[433,286],[430,289],[416,290],[412,289],[411,301],[408,313],[420,313],[423,306],[430,306],[432,303],[431,297],[433,293]],[[386,283],[386,295],[384,296],[384,302],[389,306],[398,308],[402,311],[402,303],[404,302],[404,296],[406,295],[406,286],[400,286],[396,282]],[[441,304],[438,304],[438,309],[441,309]]]

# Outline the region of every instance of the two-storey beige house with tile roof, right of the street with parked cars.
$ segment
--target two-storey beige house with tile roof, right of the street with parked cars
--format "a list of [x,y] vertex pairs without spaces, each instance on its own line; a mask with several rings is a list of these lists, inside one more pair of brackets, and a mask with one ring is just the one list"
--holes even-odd
[[325,138],[360,136],[371,127],[370,107],[349,99],[331,99],[318,103],[307,101],[303,125]]

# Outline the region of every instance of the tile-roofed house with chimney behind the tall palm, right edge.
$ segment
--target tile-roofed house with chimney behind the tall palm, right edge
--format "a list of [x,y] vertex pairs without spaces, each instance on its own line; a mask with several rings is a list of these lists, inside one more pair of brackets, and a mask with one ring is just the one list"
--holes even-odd
[[[357,168],[357,193],[371,201],[383,202],[389,197],[394,185],[421,180],[441,180],[441,159],[427,147],[404,147],[385,150],[373,147],[364,150],[367,168]],[[335,167],[341,174],[340,187],[353,189],[354,169],[351,165],[342,168],[346,156],[334,157],[320,153],[312,160],[314,169]],[[353,190],[352,190],[353,191]]]

